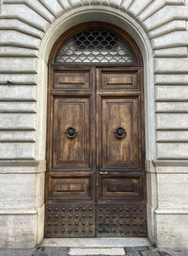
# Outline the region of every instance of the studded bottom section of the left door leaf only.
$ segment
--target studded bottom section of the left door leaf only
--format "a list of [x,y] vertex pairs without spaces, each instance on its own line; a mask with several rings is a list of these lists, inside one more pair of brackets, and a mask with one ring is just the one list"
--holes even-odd
[[47,204],[45,237],[94,237],[93,205]]

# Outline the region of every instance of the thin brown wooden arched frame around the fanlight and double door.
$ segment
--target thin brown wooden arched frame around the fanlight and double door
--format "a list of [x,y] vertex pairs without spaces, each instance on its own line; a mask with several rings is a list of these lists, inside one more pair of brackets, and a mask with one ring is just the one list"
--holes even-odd
[[[109,29],[109,26],[110,26],[110,29]],[[136,62],[135,63],[55,63],[55,56],[56,56],[56,53],[58,52],[59,48],[61,47],[61,45],[69,38],[71,38],[72,35],[80,32],[80,31],[83,31],[83,30],[86,30],[87,28],[98,28],[98,27],[102,27],[103,28],[107,28],[108,30],[111,30],[115,33],[117,33],[120,37],[122,37],[124,40],[126,40],[128,43],[131,44],[131,46],[133,47],[133,51],[134,51],[134,54],[136,56]],[[71,68],[77,68],[77,67],[91,67],[91,66],[95,66],[96,68],[97,67],[125,67],[125,68],[141,68],[142,71],[143,71],[143,60],[142,60],[142,55],[141,55],[141,52],[137,46],[137,44],[133,41],[133,39],[125,32],[123,31],[121,28],[118,28],[118,26],[113,26],[113,25],[109,25],[109,24],[106,24],[106,23],[85,23],[85,24],[81,24],[79,26],[74,26],[72,27],[71,29],[69,29],[68,31],[66,31],[55,43],[52,51],[51,51],[51,55],[50,55],[50,58],[49,58],[49,79],[48,79],[48,113],[50,113],[50,109],[51,109],[51,106],[49,104],[50,100],[49,100],[49,97],[50,97],[50,84],[52,84],[53,82],[53,72],[52,70],[55,69],[55,70],[60,70],[62,68],[68,68],[68,67],[71,67]],[[143,88],[143,72],[142,72],[142,88]],[[142,94],[142,106],[144,106],[144,103],[143,103],[143,94]],[[49,114],[47,115],[48,117],[50,116]],[[144,108],[142,110],[142,125],[144,125]],[[48,118],[48,127],[49,127],[49,123],[50,123],[50,120]],[[49,134],[49,129],[47,129],[47,160],[49,160],[49,157],[50,157],[50,147],[49,147],[49,137],[51,136]],[[145,145],[145,139],[144,139],[144,135],[143,135],[143,141],[142,141],[142,144]],[[144,155],[144,158],[145,158],[145,155]],[[47,161],[47,168],[48,168],[48,164],[49,162]],[[146,177],[146,176],[145,176]],[[47,188],[47,186],[45,186],[45,189]],[[145,179],[145,187],[144,187],[144,194],[145,194],[145,198],[146,198],[146,179]]]

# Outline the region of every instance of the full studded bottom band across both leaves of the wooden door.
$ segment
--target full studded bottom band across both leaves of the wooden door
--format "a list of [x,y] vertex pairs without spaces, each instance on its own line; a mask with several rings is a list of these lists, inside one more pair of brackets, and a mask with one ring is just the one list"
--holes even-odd
[[[96,217],[95,208],[97,208]],[[95,235],[147,236],[146,207],[109,204],[46,205],[45,237],[94,237]]]

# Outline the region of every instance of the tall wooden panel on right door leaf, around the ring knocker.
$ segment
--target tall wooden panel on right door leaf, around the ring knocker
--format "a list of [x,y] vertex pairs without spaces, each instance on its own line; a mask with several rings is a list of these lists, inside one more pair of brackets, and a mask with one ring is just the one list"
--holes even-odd
[[[138,108],[138,97],[102,98],[102,167],[124,168],[128,164],[139,164]],[[125,129],[123,138],[116,136],[117,128]]]

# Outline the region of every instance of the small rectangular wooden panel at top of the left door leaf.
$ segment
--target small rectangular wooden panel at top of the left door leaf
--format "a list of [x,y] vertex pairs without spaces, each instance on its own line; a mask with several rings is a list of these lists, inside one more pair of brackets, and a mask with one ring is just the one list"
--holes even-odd
[[90,88],[90,70],[55,72],[55,89],[79,90]]

